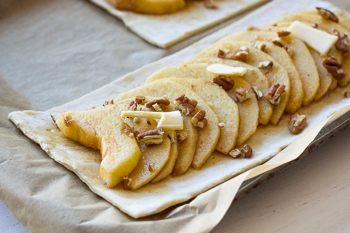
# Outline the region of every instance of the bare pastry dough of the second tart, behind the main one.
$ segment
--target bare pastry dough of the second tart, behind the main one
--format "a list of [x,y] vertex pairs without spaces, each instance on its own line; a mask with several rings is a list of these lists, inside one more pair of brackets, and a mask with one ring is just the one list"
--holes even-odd
[[203,0],[187,0],[184,9],[163,15],[118,10],[106,0],[90,1],[122,20],[149,43],[166,48],[268,0],[215,0],[217,9],[205,8]]

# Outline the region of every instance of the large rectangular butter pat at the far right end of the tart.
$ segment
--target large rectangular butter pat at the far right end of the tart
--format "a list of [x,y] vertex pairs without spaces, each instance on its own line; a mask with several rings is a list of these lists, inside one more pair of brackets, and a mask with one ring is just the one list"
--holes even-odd
[[321,55],[326,54],[331,46],[338,40],[336,35],[307,26],[296,20],[287,28],[287,31],[293,33],[299,39],[303,40],[310,47],[317,50]]

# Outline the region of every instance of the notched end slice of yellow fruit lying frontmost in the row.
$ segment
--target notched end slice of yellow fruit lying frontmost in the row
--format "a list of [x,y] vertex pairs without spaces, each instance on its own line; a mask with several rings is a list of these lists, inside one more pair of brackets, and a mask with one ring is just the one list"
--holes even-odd
[[137,142],[114,106],[89,111],[63,112],[57,123],[63,134],[102,155],[99,177],[113,188],[137,165],[141,152]]

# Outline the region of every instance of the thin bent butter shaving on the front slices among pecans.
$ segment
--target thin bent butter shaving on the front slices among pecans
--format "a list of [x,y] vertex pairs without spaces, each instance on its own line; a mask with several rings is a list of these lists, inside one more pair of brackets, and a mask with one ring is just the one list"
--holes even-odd
[[122,117],[141,117],[160,119],[157,128],[165,130],[183,129],[183,120],[180,111],[147,112],[147,111],[121,111]]

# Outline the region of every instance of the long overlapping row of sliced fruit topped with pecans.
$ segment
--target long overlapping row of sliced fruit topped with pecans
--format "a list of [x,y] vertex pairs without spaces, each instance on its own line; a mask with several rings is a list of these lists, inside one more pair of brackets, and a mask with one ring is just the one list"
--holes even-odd
[[[67,137],[100,150],[99,176],[109,188],[122,182],[124,189],[136,190],[181,175],[189,166],[200,169],[214,150],[237,152],[234,148],[254,135],[258,123],[278,124],[283,112],[293,114],[338,84],[347,85],[350,75],[341,72],[350,71],[350,56],[345,56],[349,21],[339,17],[342,21],[334,22],[327,10],[333,19],[324,19],[323,11],[322,16],[300,11],[230,34],[192,59],[156,71],[144,85],[104,107],[63,112],[56,124]],[[316,23],[338,40],[330,35],[335,45],[320,54],[296,32],[286,31],[295,20]],[[343,70],[329,58],[341,62]],[[327,62],[337,67],[335,74]],[[151,117],[180,114],[177,110],[181,130],[162,129],[162,119]],[[131,117],[121,117],[121,111],[132,112]]]

